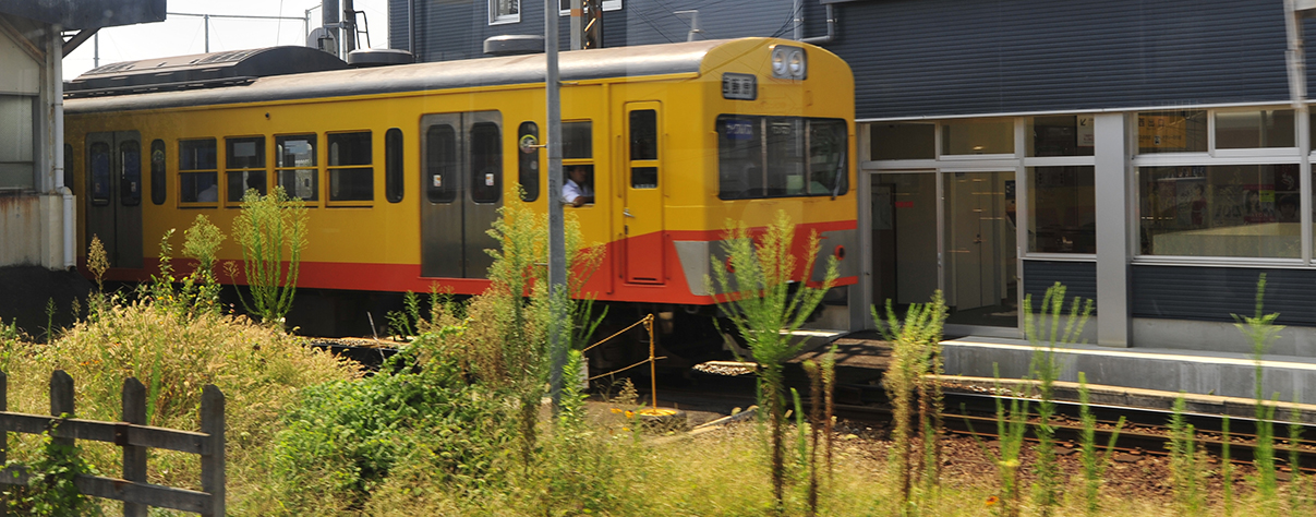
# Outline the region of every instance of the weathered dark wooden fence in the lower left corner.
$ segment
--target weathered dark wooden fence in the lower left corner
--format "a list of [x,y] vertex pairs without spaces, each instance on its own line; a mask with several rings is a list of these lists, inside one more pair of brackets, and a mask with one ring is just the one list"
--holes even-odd
[[[78,439],[114,443],[124,449],[122,479],[79,474],[74,485],[83,495],[124,501],[124,516],[146,517],[150,506],[201,516],[224,514],[224,393],[213,384],[201,391],[201,431],[146,425],[146,387],[133,378],[124,380],[121,422],[72,418],[74,379],[63,370],[50,375],[50,414],[9,412],[8,378],[0,372],[0,464],[5,463],[8,433],[50,433],[57,445],[72,447]],[[67,416],[67,417],[66,417]],[[201,456],[201,492],[146,483],[146,450],[167,449]],[[0,484],[28,484],[26,468],[0,471]],[[0,516],[5,514],[0,505]]]

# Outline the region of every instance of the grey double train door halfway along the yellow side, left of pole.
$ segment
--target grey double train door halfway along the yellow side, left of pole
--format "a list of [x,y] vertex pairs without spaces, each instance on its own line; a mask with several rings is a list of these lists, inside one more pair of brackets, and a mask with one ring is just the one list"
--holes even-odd
[[487,230],[503,205],[503,124],[497,112],[421,117],[421,276],[484,278],[497,241]]

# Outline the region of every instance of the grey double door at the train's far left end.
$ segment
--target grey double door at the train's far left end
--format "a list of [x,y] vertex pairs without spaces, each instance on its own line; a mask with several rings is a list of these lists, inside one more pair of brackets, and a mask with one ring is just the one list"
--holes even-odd
[[87,242],[97,237],[111,267],[142,267],[142,137],[87,134]]

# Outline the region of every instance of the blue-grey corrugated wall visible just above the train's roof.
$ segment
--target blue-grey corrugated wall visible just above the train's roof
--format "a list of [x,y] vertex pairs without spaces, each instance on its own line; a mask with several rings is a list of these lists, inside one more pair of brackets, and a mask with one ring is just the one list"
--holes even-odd
[[[817,0],[812,0],[813,4]],[[388,1],[388,46],[408,49],[408,0]],[[484,57],[484,39],[500,34],[544,34],[544,1],[522,0],[521,21],[517,24],[488,25],[488,0],[432,1],[415,0],[416,47],[421,61],[451,61]],[[647,1],[624,0],[620,11],[603,13],[604,46],[634,46],[686,41],[690,17],[676,16],[676,11],[699,11],[703,39],[740,38],[747,36],[791,37],[791,0],[699,0]],[[825,26],[822,8],[812,5],[819,20],[809,26],[820,26],[809,36],[817,36]],[[571,18],[559,17],[558,28],[562,50],[571,46]]]

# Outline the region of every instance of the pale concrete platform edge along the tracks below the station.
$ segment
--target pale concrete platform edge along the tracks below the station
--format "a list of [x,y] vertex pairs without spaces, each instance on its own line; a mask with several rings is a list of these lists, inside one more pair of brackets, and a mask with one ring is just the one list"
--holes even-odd
[[[965,337],[942,341],[946,375],[992,378],[992,364],[1001,379],[1028,375],[1033,346],[1023,339]],[[1088,384],[1177,393],[1253,399],[1257,362],[1248,354],[1191,351],[1182,349],[1111,349],[1095,345],[1057,347],[1061,379]],[[1283,403],[1316,401],[1316,358],[1265,355],[1261,358],[1262,389]]]

